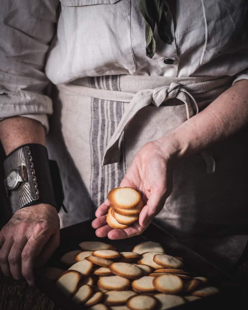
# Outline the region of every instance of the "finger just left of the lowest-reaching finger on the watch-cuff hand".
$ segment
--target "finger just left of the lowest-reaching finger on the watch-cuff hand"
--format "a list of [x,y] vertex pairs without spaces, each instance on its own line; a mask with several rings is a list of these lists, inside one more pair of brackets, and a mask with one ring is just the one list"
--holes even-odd
[[15,280],[20,280],[22,278],[21,253],[27,241],[26,237],[15,240],[8,255],[10,272]]

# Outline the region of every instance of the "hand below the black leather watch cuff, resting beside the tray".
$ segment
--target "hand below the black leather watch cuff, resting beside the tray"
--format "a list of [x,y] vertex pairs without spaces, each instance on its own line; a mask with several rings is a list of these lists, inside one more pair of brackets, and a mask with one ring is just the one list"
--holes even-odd
[[44,265],[60,242],[55,207],[39,204],[18,210],[0,231],[0,266],[6,277],[34,284],[34,267]]

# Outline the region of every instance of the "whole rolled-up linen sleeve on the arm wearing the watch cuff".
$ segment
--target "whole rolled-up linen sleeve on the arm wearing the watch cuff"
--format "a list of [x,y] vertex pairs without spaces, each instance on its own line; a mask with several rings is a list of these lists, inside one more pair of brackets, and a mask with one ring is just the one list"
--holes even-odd
[[48,131],[52,101],[44,66],[53,38],[58,0],[2,2],[0,10],[0,120],[24,116]]

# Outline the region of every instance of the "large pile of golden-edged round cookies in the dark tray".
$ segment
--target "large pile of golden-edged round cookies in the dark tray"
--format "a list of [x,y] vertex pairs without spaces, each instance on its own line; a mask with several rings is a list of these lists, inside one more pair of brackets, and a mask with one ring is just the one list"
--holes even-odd
[[88,310],[165,310],[219,292],[156,242],[142,242],[132,252],[99,241],[79,246],[79,253],[61,257],[67,270],[45,268],[44,273]]

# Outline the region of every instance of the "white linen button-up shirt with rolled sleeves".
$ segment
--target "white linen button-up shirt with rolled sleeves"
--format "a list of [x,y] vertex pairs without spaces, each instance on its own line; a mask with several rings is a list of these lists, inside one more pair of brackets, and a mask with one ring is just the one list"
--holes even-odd
[[[68,83],[113,74],[248,79],[247,0],[170,0],[172,42],[146,56],[139,0],[23,0],[0,11],[0,119],[42,122],[52,101],[49,80]],[[173,64],[166,64],[169,59]],[[167,61],[168,62],[168,61]]]

